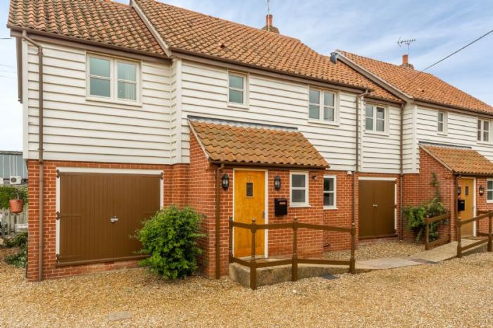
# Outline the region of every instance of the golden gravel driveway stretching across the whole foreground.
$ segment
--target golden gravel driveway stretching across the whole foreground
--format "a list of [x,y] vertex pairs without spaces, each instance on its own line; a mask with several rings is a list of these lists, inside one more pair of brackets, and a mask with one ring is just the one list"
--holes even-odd
[[[251,291],[226,278],[163,282],[142,269],[28,283],[2,262],[0,327],[491,327],[492,267],[493,254],[478,253]],[[108,321],[117,311],[130,319]]]

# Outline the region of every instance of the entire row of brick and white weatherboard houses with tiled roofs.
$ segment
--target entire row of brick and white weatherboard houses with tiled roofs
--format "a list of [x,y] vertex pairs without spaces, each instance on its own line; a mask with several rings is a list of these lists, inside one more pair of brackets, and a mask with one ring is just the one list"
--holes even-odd
[[[30,280],[135,266],[128,236],[170,204],[204,215],[201,270],[219,277],[230,239],[235,256],[249,255],[250,236],[230,236],[229,217],[355,220],[359,239],[407,238],[401,208],[432,196],[432,173],[454,215],[454,184],[463,217],[493,202],[493,108],[411,65],[324,56],[272,16],[254,28],[154,0],[12,0],[8,27]],[[300,232],[299,253],[350,239]],[[289,232],[266,231],[256,253],[285,256],[291,244]]]

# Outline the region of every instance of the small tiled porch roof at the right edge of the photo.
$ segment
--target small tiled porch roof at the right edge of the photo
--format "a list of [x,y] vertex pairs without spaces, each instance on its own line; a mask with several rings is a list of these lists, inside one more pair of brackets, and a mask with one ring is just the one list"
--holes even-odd
[[449,170],[464,175],[493,175],[493,163],[473,149],[422,145],[421,149]]

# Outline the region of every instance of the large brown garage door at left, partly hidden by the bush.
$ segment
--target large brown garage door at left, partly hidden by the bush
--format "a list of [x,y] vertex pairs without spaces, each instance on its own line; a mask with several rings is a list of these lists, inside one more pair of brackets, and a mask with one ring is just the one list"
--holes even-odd
[[138,257],[139,241],[130,236],[159,209],[160,179],[61,172],[58,264]]

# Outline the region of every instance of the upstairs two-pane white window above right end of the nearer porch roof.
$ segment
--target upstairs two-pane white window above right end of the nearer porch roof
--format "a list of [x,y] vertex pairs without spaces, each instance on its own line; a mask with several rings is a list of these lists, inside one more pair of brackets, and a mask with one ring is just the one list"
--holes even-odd
[[335,104],[335,92],[310,89],[308,97],[308,118],[322,122],[335,122]]

